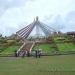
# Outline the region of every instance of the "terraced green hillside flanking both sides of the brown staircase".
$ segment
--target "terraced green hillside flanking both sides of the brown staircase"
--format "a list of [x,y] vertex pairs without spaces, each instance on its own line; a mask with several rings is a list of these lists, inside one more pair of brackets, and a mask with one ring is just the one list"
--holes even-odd
[[[2,43],[1,43],[2,42]],[[22,43],[16,40],[1,40],[0,42],[0,56],[6,56],[10,54],[14,54],[16,50],[20,48]],[[33,47],[33,50],[42,49],[43,53],[55,53],[58,52],[69,52],[75,51],[75,44],[72,42],[72,38],[70,37],[53,37],[53,43],[44,43],[38,44]]]

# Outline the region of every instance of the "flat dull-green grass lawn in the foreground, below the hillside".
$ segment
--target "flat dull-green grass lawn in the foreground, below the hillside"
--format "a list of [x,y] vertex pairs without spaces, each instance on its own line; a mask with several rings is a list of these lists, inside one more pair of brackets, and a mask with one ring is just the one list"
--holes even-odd
[[0,57],[0,75],[75,75],[75,55]]

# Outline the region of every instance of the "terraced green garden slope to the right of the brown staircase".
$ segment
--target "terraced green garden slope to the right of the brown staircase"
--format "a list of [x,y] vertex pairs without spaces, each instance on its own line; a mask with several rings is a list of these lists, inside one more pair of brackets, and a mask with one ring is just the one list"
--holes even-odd
[[[72,39],[71,39],[72,40]],[[58,52],[72,52],[75,51],[75,44],[66,37],[54,37],[52,43],[37,44],[33,47],[33,50],[42,49],[42,52],[52,53]]]

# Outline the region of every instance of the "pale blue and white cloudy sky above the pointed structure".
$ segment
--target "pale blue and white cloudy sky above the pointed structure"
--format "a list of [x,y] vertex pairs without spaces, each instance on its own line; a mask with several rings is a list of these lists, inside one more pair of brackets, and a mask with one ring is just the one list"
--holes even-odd
[[16,33],[36,16],[56,30],[75,31],[75,0],[0,0],[0,33]]

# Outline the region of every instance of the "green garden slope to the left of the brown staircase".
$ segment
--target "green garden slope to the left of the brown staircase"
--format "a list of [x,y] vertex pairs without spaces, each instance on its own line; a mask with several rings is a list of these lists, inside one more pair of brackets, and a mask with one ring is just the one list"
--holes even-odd
[[14,56],[15,51],[21,47],[22,43],[17,40],[3,40],[0,42],[0,56]]

